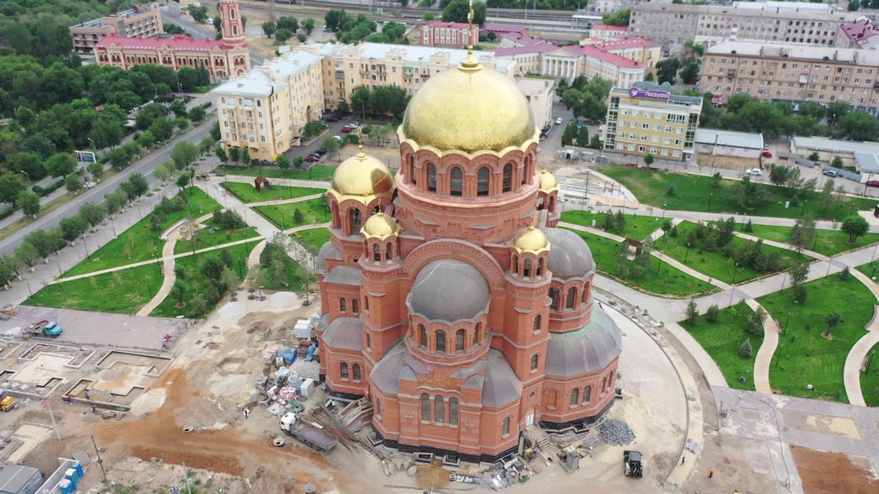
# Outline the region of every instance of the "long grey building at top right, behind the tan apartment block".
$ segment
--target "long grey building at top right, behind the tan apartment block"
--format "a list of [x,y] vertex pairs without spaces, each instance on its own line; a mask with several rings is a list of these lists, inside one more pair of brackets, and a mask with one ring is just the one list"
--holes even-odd
[[642,3],[632,7],[628,33],[677,49],[686,40],[708,47],[723,40],[836,46],[840,25],[856,12],[781,8],[754,4],[690,5]]

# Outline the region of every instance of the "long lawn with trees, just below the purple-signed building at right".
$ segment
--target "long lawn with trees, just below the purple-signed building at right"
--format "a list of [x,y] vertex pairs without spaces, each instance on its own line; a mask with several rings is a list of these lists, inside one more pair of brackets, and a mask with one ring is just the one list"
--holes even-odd
[[[784,204],[788,201],[786,189],[774,185],[759,185],[766,193],[766,202],[753,211],[738,211],[734,193],[736,180],[724,179],[720,187],[713,187],[712,178],[703,175],[645,171],[619,165],[607,165],[599,168],[599,171],[625,185],[629,191],[636,194],[642,204],[662,207],[663,203],[667,202],[666,207],[671,210],[735,212],[777,218],[796,218],[803,213],[810,213],[819,218],[842,220],[851,214],[853,205],[856,209],[872,209],[875,206],[875,200],[872,199],[845,198],[838,207],[819,214],[817,211],[819,193],[809,192],[801,196],[805,200],[803,205],[785,208]],[[672,185],[675,186],[673,197],[667,194]]]

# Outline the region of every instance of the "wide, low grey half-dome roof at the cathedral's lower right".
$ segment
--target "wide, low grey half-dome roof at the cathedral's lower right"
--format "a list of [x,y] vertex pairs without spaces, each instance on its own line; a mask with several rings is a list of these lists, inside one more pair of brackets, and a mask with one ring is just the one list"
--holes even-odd
[[548,375],[570,377],[597,372],[620,356],[622,333],[604,309],[592,309],[592,319],[578,331],[551,333],[547,343]]

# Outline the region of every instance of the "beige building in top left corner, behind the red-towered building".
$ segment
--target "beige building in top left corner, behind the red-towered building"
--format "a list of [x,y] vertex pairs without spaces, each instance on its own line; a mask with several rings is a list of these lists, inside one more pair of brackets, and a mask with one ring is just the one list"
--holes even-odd
[[70,26],[73,51],[91,54],[107,36],[151,38],[164,33],[162,12],[156,4],[135,4],[127,11]]

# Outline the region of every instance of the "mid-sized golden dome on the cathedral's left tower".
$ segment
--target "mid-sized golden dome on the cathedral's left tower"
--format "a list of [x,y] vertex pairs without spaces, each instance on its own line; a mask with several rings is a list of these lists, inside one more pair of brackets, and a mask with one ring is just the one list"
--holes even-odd
[[361,145],[357,156],[338,165],[332,175],[330,192],[338,196],[371,200],[377,195],[389,195],[394,191],[394,186],[394,177],[388,167],[374,157],[365,155]]

